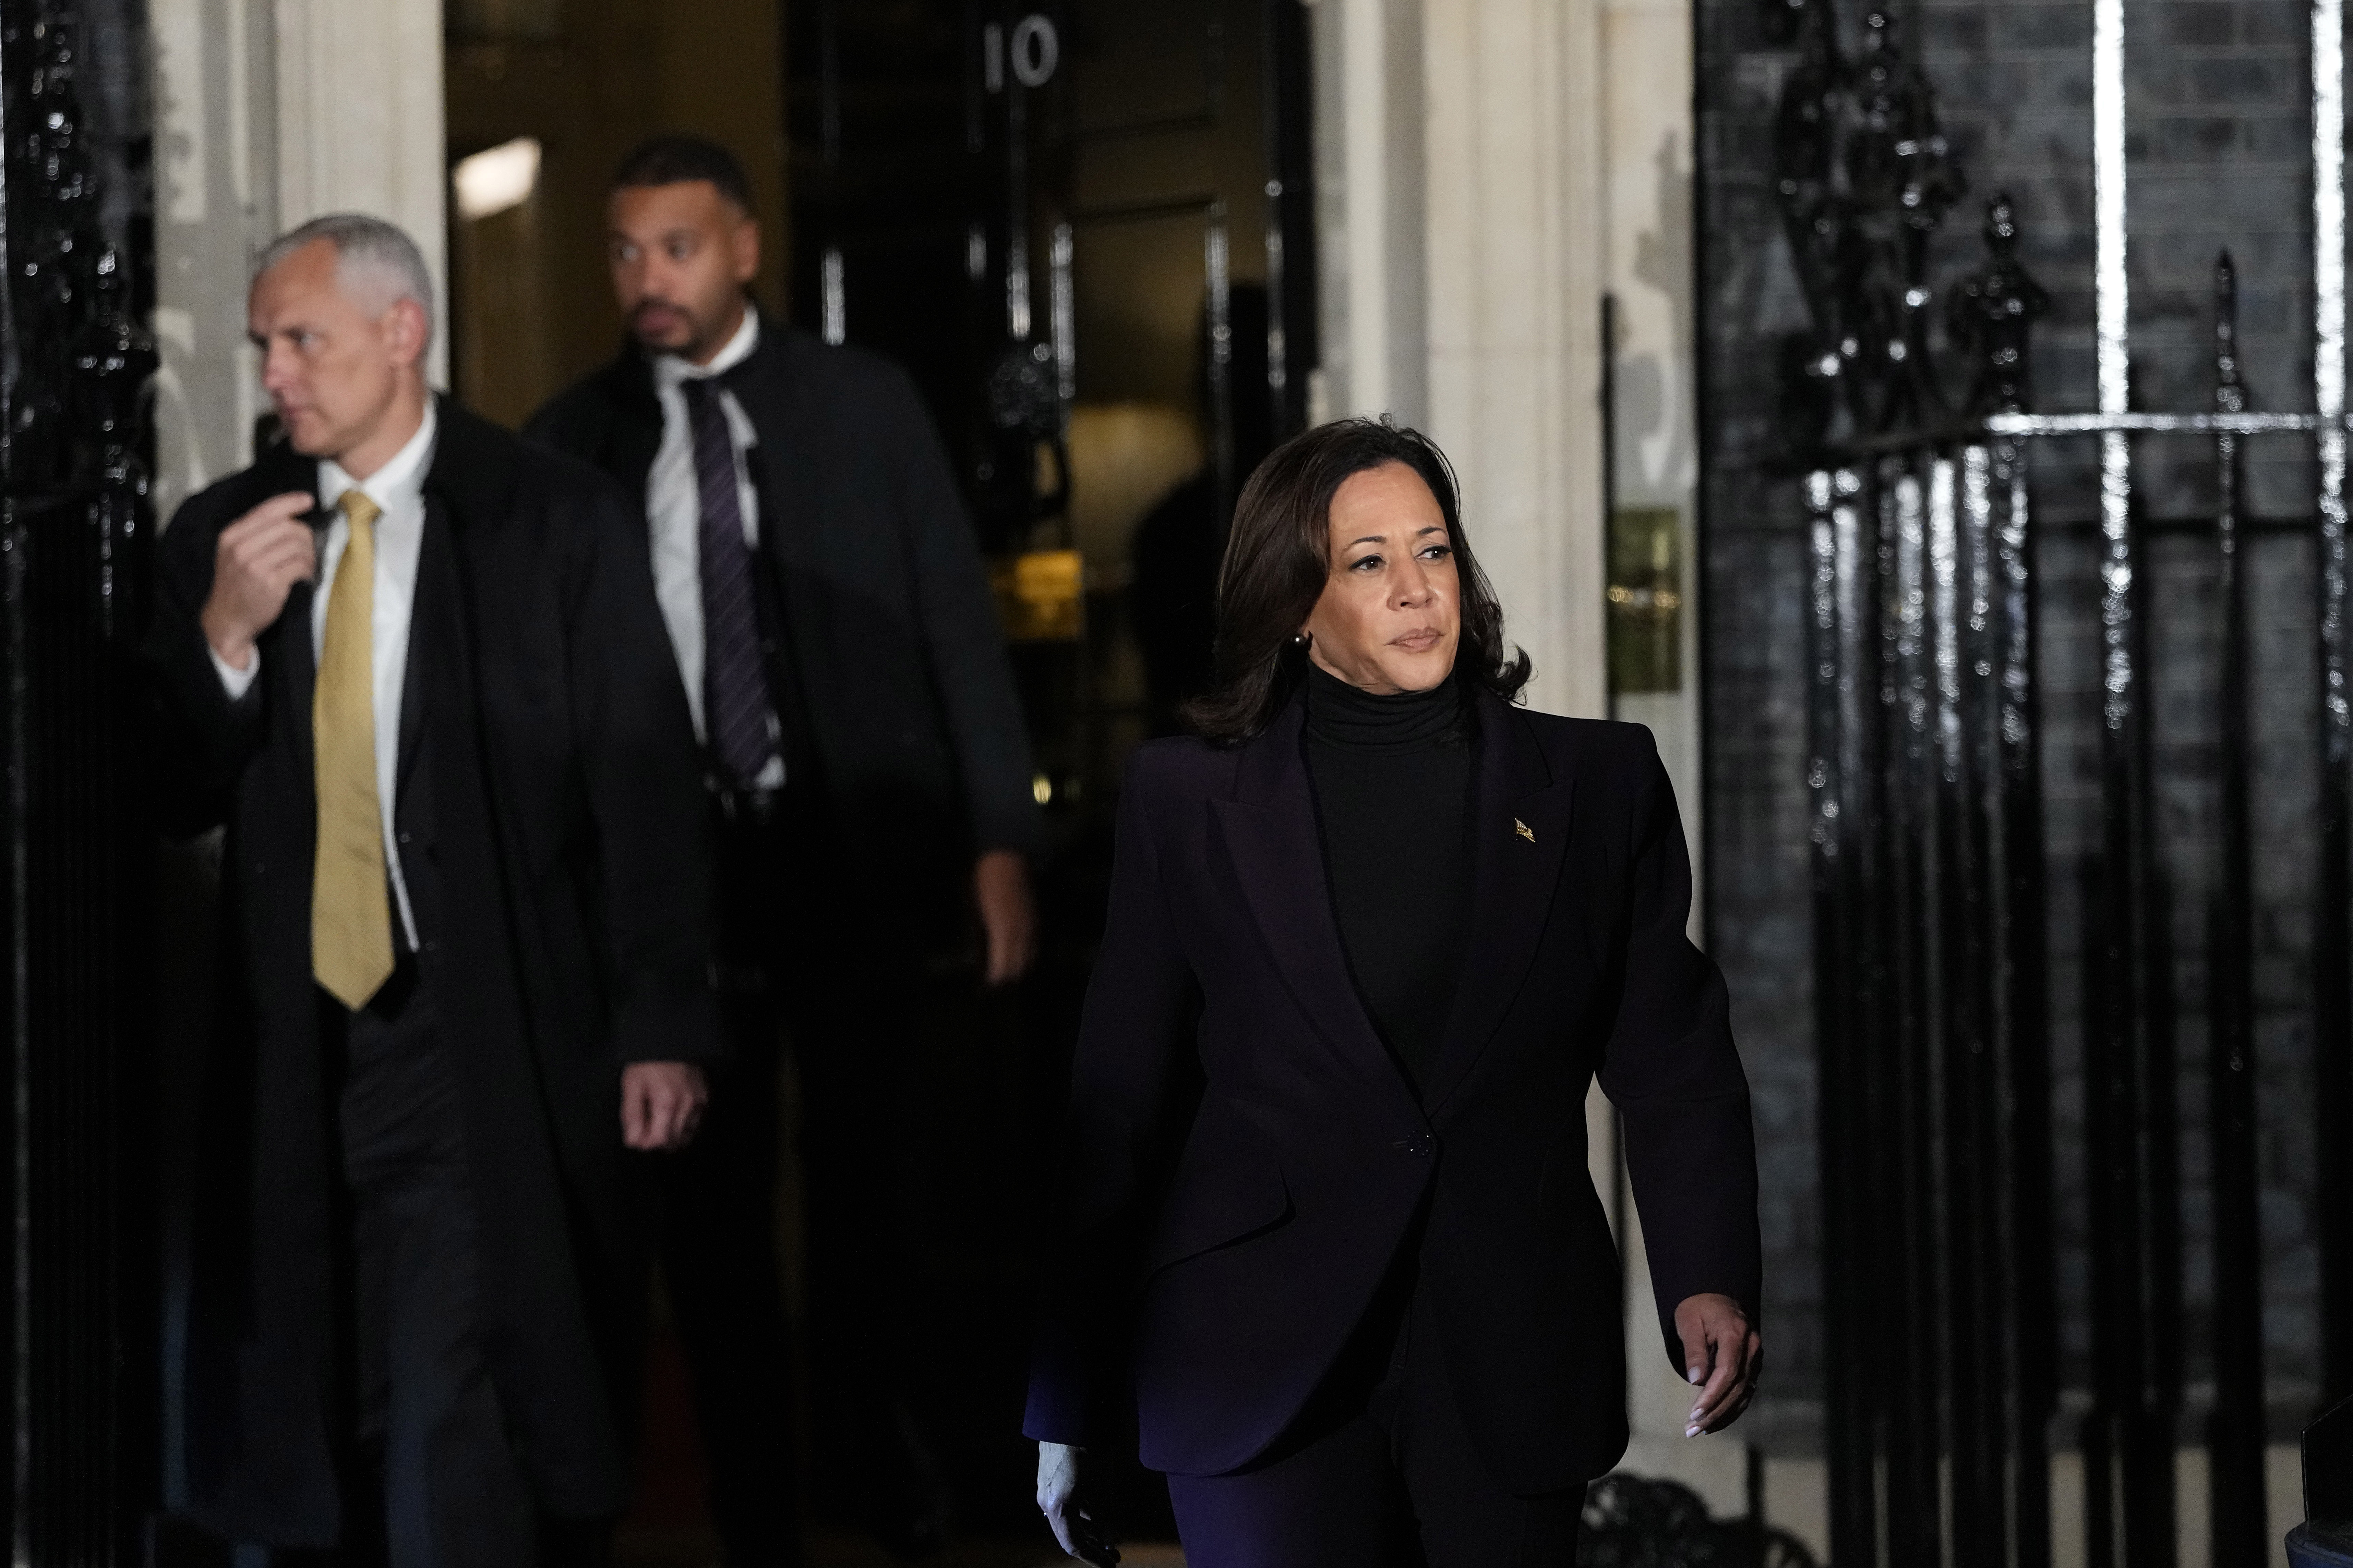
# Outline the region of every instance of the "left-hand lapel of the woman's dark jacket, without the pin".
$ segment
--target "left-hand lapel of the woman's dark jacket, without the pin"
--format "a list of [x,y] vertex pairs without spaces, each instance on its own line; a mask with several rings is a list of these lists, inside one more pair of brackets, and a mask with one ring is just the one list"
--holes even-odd
[[1341,950],[1322,863],[1322,827],[1299,750],[1304,717],[1306,710],[1294,698],[1242,752],[1235,799],[1214,799],[1209,809],[1242,900],[1299,1011],[1358,1070],[1405,1088],[1405,1074],[1372,1027]]

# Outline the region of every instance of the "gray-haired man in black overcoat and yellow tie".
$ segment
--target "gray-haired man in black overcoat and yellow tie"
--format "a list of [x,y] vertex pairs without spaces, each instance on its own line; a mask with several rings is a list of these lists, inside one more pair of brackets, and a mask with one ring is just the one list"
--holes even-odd
[[628,501],[426,388],[431,299],[379,219],[271,244],[285,440],[158,548],[165,816],[226,827],[188,1512],[391,1568],[593,1561],[628,1150],[692,1135],[718,1048],[701,766]]

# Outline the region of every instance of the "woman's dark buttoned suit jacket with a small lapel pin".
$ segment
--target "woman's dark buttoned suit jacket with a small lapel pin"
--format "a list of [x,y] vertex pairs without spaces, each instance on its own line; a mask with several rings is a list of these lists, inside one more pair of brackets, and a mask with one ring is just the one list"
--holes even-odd
[[[1577,1486],[1626,1448],[1595,1072],[1678,1373],[1678,1302],[1758,1307],[1748,1084],[1722,978],[1682,933],[1666,771],[1640,726],[1480,693],[1473,926],[1417,1100],[1348,978],[1299,731],[1294,698],[1247,745],[1153,741],[1129,771],[1026,1429],[1078,1443],[1132,1378],[1146,1465],[1247,1465],[1426,1201],[1421,1279],[1473,1441],[1518,1493]],[[1169,1086],[1193,1053],[1186,1128]]]

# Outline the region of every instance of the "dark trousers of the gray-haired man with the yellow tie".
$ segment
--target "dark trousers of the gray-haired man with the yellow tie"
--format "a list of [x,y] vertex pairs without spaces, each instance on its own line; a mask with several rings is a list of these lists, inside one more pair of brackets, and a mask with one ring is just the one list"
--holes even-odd
[[341,1044],[351,1448],[346,1563],[513,1568],[541,1554],[480,1335],[473,1185],[440,1023],[402,966]]

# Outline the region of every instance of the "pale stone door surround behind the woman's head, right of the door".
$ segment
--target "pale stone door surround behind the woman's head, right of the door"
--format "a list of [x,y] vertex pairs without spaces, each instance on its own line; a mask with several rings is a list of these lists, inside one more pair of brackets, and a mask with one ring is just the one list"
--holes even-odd
[[1391,411],[1464,480],[1537,661],[1529,701],[1609,712],[1602,296],[1619,296],[1619,494],[1682,517],[1685,682],[1652,726],[1699,844],[1692,21],[1678,0],[1313,5],[1318,416]]

